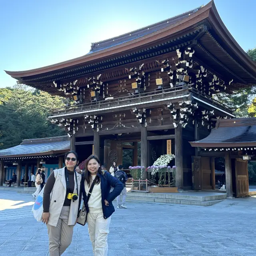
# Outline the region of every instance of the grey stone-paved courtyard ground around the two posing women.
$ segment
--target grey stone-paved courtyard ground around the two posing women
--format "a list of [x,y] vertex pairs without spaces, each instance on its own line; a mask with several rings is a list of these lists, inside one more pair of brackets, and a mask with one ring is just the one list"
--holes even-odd
[[[0,256],[46,256],[46,225],[32,216],[32,196],[0,191]],[[213,206],[128,201],[116,209],[108,256],[255,256],[256,198]],[[92,256],[87,227],[75,226],[63,256]]]

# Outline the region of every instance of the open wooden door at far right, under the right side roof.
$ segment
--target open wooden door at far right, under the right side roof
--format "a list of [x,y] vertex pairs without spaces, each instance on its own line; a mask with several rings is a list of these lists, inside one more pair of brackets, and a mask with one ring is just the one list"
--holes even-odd
[[[249,195],[249,180],[248,180],[248,162],[240,158],[234,159],[235,176],[236,176],[236,197]],[[234,172],[233,172],[234,173]]]

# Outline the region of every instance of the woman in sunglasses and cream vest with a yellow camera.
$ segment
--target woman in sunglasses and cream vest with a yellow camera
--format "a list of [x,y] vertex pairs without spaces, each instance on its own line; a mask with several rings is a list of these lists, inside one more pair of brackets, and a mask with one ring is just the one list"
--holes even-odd
[[72,242],[82,198],[77,164],[77,153],[66,153],[66,166],[54,170],[44,186],[42,221],[47,224],[50,256],[60,256]]

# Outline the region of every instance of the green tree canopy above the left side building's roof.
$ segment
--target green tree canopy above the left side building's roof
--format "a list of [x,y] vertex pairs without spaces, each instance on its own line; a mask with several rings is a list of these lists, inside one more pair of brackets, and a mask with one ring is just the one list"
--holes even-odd
[[24,85],[0,89],[0,149],[24,139],[65,135],[64,129],[46,120],[50,108],[62,106],[58,96]]

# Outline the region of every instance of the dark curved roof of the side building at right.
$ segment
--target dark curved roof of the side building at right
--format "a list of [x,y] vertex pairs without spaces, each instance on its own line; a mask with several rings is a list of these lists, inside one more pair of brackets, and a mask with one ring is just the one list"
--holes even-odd
[[190,142],[192,147],[239,148],[256,146],[256,118],[218,120],[204,139]]

